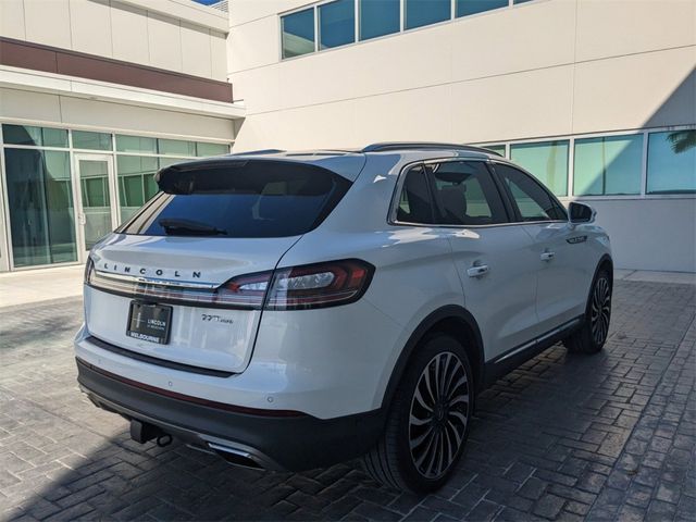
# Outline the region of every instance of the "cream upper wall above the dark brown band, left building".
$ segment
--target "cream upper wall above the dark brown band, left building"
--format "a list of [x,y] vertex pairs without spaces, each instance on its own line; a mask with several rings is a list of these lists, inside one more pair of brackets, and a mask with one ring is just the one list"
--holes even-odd
[[0,1],[0,36],[219,80],[227,26],[188,0]]

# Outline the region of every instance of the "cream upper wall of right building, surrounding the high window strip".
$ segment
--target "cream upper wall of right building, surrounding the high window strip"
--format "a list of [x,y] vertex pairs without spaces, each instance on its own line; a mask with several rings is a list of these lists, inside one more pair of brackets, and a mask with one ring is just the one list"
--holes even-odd
[[236,150],[696,122],[693,0],[536,0],[281,62],[277,13],[309,3],[231,2]]

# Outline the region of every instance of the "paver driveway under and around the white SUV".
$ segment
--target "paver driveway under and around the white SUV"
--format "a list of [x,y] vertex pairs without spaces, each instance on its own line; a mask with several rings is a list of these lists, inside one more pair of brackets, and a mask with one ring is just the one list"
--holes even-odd
[[555,347],[478,401],[452,481],[415,497],[357,464],[228,467],[127,437],[75,384],[77,299],[0,309],[0,519],[694,520],[696,287],[617,282],[594,357]]

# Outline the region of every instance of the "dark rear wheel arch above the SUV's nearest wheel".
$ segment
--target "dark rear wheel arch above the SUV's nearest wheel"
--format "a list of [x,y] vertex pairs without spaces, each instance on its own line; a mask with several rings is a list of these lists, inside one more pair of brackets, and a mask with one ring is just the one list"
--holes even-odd
[[[396,393],[396,388],[401,381],[401,376],[413,355],[415,347],[426,335],[434,332],[444,332],[450,334],[458,340],[462,340],[464,350],[469,356],[472,371],[474,373],[474,383],[476,389],[481,389],[484,383],[484,364],[485,356],[483,348],[483,338],[481,330],[474,316],[463,307],[457,304],[447,304],[438,308],[430,313],[415,327],[409,339],[407,340],[399,358],[391,370],[391,375],[387,383],[382,407],[388,408]],[[463,339],[462,339],[463,337]]]

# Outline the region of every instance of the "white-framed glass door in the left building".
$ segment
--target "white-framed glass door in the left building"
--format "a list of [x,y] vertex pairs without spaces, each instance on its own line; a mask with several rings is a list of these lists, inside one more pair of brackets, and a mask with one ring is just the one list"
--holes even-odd
[[82,251],[89,252],[99,239],[117,226],[113,158],[109,154],[75,154],[77,222]]

